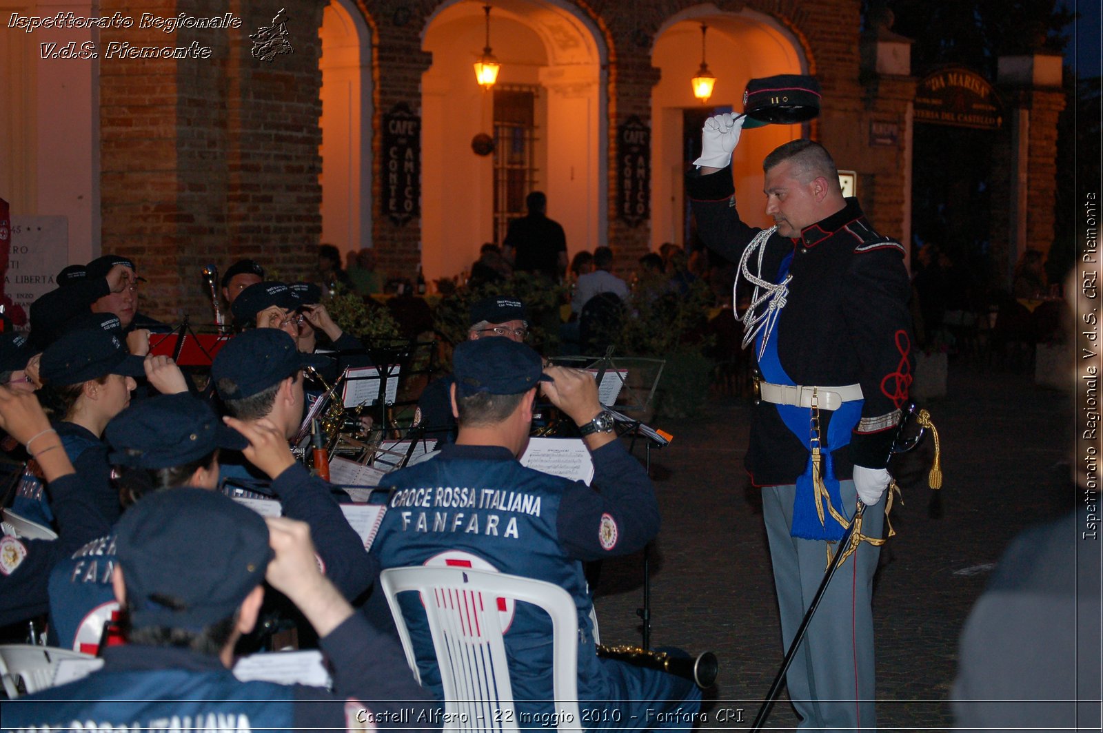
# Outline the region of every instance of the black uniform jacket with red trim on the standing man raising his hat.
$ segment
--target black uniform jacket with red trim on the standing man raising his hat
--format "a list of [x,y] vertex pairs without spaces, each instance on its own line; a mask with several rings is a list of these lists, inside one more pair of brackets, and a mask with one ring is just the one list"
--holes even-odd
[[[760,229],[739,219],[731,170],[690,171],[686,192],[700,238],[738,262]],[[782,260],[794,252],[786,304],[771,338],[778,339],[781,365],[797,385],[861,385],[861,420],[850,444],[833,452],[835,475],[844,479],[855,463],[871,468],[888,463],[911,384],[911,288],[903,247],[874,231],[856,198],[801,235],[774,234],[767,242],[764,280],[774,282]],[[757,259],[750,262],[752,272]],[[822,411],[824,436],[829,419],[831,412]],[[756,485],[795,483],[807,455],[806,442],[785,427],[773,405],[754,406],[747,470]]]

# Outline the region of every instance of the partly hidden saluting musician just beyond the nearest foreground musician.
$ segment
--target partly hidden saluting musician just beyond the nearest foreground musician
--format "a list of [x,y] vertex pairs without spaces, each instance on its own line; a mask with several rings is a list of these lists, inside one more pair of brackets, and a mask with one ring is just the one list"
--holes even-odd
[[[272,489],[283,516],[306,521],[319,538],[319,559],[330,580],[349,597],[357,596],[373,580],[365,572],[372,563],[329,488],[306,471],[287,470],[293,459],[275,428],[235,424],[239,432],[223,425],[206,402],[186,392],[151,397],[120,412],[108,423],[105,438],[124,505],[179,486],[214,489],[219,449],[244,451],[275,478]],[[78,549],[51,574],[51,634],[56,646],[96,654],[104,624],[118,610],[110,578],[115,546],[109,532]]]

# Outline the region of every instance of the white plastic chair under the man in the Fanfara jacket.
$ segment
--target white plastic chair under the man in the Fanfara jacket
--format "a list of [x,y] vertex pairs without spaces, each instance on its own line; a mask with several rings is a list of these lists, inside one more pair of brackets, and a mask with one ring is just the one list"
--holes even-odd
[[544,581],[468,568],[392,568],[384,570],[379,580],[406,662],[419,683],[414,645],[397,596],[405,591],[421,594],[445,691],[446,731],[518,730],[499,599],[531,603],[550,617],[549,671],[557,727],[582,730],[578,709],[578,617],[567,591]]

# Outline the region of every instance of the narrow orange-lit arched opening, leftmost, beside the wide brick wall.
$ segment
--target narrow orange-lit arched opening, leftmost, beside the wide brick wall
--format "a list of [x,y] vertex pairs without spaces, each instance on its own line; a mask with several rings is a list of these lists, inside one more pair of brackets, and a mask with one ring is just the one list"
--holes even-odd
[[356,7],[330,0],[322,13],[322,241],[372,246],[371,32]]

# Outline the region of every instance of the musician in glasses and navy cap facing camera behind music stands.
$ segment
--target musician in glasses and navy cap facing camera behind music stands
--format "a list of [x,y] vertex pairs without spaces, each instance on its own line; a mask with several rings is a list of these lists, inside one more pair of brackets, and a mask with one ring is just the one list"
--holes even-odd
[[[471,306],[468,341],[503,336],[523,342],[528,335],[525,305],[515,298],[497,295],[478,301]],[[429,382],[417,401],[416,424],[425,428],[425,436],[438,445],[456,441],[456,417],[449,392],[456,379],[452,375]]]

